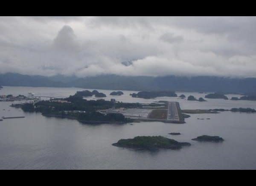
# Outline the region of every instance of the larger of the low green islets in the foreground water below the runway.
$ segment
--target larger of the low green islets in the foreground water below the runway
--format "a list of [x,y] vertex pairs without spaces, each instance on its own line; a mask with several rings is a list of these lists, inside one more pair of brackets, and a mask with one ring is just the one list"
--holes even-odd
[[188,142],[177,142],[174,139],[162,136],[137,136],[133,139],[120,139],[112,145],[141,150],[158,150],[160,148],[180,149],[182,146],[190,146],[191,144]]

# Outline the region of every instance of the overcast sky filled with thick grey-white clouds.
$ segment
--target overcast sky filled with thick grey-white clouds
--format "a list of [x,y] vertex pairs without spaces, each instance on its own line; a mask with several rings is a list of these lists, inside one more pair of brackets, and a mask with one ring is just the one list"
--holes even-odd
[[0,73],[256,77],[256,17],[0,17]]

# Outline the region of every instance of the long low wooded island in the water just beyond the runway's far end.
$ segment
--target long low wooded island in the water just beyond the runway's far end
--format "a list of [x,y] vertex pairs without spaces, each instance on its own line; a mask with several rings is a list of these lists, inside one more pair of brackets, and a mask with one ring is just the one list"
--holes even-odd
[[147,92],[142,91],[138,93],[132,93],[130,94],[134,98],[144,98],[144,99],[151,99],[156,97],[177,97],[177,94],[174,91],[155,91],[155,92]]

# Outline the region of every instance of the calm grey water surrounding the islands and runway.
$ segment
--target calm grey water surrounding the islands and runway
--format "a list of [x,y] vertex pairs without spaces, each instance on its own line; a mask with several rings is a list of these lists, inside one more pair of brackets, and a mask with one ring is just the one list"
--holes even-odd
[[[67,97],[79,88],[4,87],[2,94]],[[90,90],[90,89],[87,89]],[[99,90],[109,95],[112,90]],[[123,91],[108,96],[122,102],[149,103],[178,101],[181,109],[255,108],[253,101],[207,99],[194,102],[177,98],[139,99]],[[178,96],[181,93],[177,93]],[[200,93],[183,93],[196,98]],[[227,95],[229,98],[240,95]],[[90,98],[96,99],[96,98]],[[134,125],[84,125],[76,120],[47,118],[40,113],[24,113],[0,102],[0,116],[26,116],[0,121],[0,169],[256,169],[256,114],[190,114],[185,124],[140,122]],[[5,110],[3,110],[5,109]],[[10,111],[9,111],[10,110]],[[198,120],[197,118],[205,118]],[[206,120],[206,118],[211,118]],[[168,133],[180,132],[180,136]],[[192,138],[208,134],[225,139],[222,143],[196,142]],[[112,146],[121,138],[161,135],[192,145],[180,150],[136,151]]]

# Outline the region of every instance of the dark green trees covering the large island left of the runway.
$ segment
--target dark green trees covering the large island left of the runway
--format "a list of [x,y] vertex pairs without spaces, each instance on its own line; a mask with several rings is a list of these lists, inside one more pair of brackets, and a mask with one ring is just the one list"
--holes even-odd
[[[97,94],[96,91],[94,93]],[[98,110],[110,108],[143,108],[145,106],[158,107],[160,104],[151,103],[142,105],[140,103],[111,102],[104,99],[86,100],[84,95],[91,95],[88,90],[78,91],[75,95],[58,101],[40,101],[35,103],[13,104],[13,107],[21,108],[25,112],[41,112],[44,116],[77,119],[81,122],[131,122],[132,119],[125,118],[121,113],[100,113]],[[165,104],[166,105],[166,104]],[[167,115],[167,110],[166,110]]]

